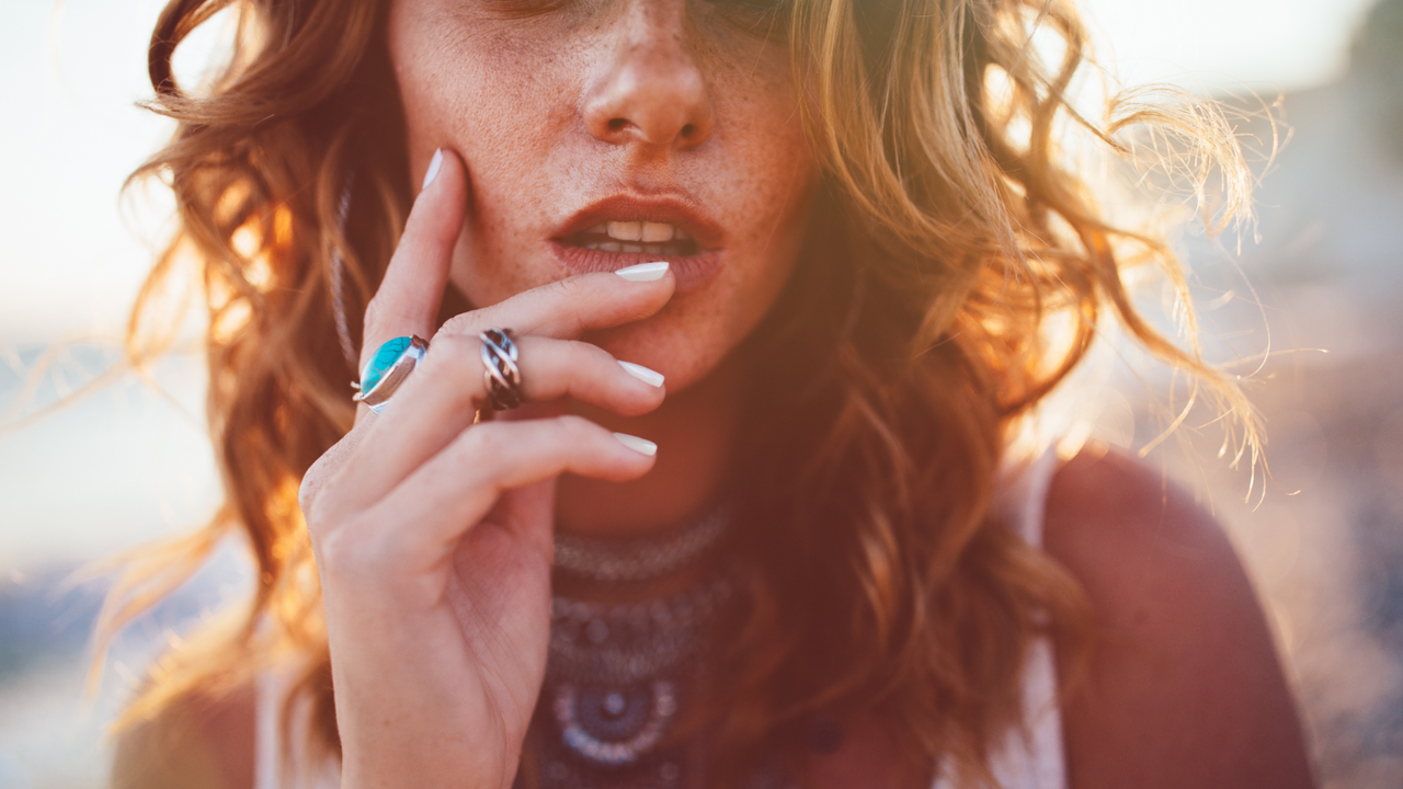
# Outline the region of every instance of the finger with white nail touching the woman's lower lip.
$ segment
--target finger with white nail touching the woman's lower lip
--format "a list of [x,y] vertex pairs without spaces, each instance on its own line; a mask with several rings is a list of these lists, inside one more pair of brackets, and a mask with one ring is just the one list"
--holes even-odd
[[666,263],[579,274],[453,316],[439,334],[477,337],[487,329],[506,327],[518,334],[574,340],[585,331],[613,329],[657,313],[675,286],[676,278]]

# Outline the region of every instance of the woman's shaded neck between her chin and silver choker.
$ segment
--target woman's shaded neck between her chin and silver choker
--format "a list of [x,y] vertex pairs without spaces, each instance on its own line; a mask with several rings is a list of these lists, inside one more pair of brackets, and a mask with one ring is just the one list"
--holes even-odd
[[610,483],[563,476],[556,525],[589,536],[636,536],[702,514],[725,490],[741,416],[735,361],[676,394],[651,414],[623,418],[574,404],[571,411],[609,430],[658,444],[658,462],[644,477]]

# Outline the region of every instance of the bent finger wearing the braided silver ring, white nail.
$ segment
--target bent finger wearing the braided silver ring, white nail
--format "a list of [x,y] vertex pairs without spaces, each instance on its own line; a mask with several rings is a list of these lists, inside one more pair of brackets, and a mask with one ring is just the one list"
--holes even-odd
[[[662,376],[624,365],[598,345],[544,337],[518,340],[522,394],[543,403],[571,397],[622,416],[662,404]],[[394,394],[358,453],[337,480],[344,498],[365,507],[467,430],[488,402],[477,337],[439,336],[424,364]]]

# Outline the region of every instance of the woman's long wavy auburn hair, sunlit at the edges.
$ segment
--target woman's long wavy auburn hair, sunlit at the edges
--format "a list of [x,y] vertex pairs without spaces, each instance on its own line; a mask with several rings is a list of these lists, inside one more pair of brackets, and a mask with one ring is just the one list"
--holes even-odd
[[[231,532],[257,576],[247,605],[156,663],[128,722],[297,656],[307,745],[338,748],[297,489],[355,416],[334,302],[358,337],[412,197],[386,6],[171,0],[152,37],[149,107],[178,129],[132,178],[163,180],[180,223],[136,302],[128,352],[142,364],[168,345],[161,305],[194,282],[227,498],[198,533],[133,559],[104,632]],[[198,91],[177,84],[177,46],[230,7],[227,65]],[[1069,164],[1069,135],[1132,161],[1148,146],[1191,164],[1200,197],[1212,175],[1212,225],[1246,206],[1250,177],[1212,104],[1142,90],[1103,119],[1080,115],[1070,87],[1089,42],[1069,0],[791,0],[774,14],[824,164],[822,218],[805,277],[751,351],[763,383],[737,517],[755,528],[735,531],[759,571],[741,635],[716,657],[730,678],[718,751],[738,769],[807,713],[873,713],[912,765],[989,785],[993,744],[1019,722],[1028,644],[1056,639],[1066,679],[1093,635],[1076,581],[993,507],[1019,418],[1110,316],[1191,373],[1256,459],[1251,411],[1202,361],[1193,312],[1176,341],[1128,293],[1127,268],[1149,264],[1187,306],[1180,265],[1159,237],[1103,216]],[[449,293],[443,317],[464,309]]]

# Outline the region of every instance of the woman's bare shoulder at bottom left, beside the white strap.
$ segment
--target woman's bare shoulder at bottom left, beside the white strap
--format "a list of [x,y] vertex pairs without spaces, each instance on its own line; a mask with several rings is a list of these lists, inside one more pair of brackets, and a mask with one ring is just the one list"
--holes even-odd
[[187,698],[116,736],[114,789],[253,789],[255,692]]

